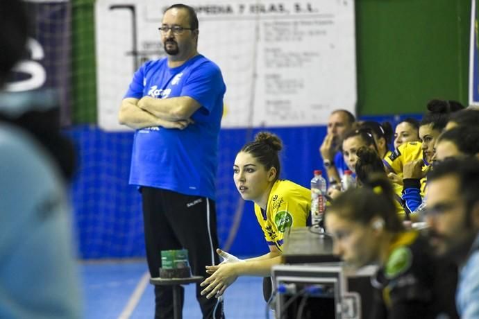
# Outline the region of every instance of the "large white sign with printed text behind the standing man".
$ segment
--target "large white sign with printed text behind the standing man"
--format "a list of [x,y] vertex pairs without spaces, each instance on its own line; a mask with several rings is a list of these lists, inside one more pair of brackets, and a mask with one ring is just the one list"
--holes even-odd
[[[137,67],[165,53],[158,26],[172,3],[96,1],[99,125],[117,123]],[[355,113],[353,0],[191,0],[199,18],[199,52],[223,72],[221,126],[323,125],[332,110]]]

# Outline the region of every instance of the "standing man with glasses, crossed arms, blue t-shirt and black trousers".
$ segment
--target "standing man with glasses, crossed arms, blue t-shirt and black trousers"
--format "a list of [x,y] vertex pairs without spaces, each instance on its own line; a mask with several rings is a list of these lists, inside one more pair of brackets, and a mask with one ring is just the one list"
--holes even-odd
[[[165,10],[160,35],[166,57],[135,72],[119,110],[135,129],[130,184],[142,194],[146,260],[160,277],[162,250],[185,248],[194,275],[219,264],[215,178],[223,97],[221,70],[197,51],[199,21],[190,6]],[[181,304],[183,304],[181,287]],[[223,302],[196,285],[203,318],[223,318]],[[171,286],[155,286],[155,318],[172,318]]]

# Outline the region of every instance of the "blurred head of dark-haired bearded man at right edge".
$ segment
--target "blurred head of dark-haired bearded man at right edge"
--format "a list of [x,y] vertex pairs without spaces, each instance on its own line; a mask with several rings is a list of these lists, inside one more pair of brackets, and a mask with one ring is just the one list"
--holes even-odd
[[463,261],[479,232],[479,161],[451,158],[428,174],[426,221],[438,255]]

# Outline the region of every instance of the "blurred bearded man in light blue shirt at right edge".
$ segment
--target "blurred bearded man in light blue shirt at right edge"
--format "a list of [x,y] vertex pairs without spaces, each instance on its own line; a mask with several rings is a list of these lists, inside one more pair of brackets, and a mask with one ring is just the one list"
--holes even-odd
[[449,158],[428,174],[430,243],[460,267],[457,312],[479,318],[479,160]]

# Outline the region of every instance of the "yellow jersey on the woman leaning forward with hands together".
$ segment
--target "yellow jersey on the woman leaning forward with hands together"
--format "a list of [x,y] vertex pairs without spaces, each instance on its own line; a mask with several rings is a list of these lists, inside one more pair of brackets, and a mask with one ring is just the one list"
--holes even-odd
[[310,214],[311,191],[289,180],[277,180],[269,193],[266,212],[255,204],[255,214],[268,245],[282,251],[287,227],[305,227]]

